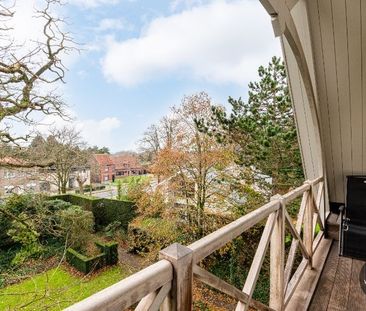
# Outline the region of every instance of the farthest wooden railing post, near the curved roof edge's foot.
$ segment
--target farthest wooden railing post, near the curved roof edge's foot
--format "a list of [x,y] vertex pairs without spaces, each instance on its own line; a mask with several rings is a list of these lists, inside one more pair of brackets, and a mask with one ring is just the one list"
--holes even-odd
[[313,258],[313,204],[314,204],[314,192],[313,186],[309,181],[306,181],[310,185],[308,201],[305,206],[305,215],[304,215],[304,244],[305,248],[309,254],[308,258],[308,268],[312,269],[312,258]]

